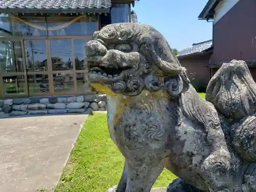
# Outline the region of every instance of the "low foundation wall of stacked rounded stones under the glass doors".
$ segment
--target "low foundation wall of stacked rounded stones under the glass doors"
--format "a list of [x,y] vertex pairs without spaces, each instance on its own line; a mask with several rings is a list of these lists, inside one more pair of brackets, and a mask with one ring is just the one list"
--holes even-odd
[[106,95],[27,97],[0,100],[0,118],[106,111]]

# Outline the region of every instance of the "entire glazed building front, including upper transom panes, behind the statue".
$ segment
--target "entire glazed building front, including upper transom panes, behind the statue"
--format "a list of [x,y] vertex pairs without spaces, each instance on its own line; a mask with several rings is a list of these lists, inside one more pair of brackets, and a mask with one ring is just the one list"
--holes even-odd
[[85,47],[98,19],[0,14],[0,98],[92,94]]

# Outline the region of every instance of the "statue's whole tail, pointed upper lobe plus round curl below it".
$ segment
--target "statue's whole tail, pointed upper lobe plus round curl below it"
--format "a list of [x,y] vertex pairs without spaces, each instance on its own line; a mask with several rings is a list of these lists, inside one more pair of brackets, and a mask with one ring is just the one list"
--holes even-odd
[[218,112],[234,123],[230,130],[231,143],[240,157],[256,161],[256,83],[244,61],[223,63],[211,78],[206,100]]

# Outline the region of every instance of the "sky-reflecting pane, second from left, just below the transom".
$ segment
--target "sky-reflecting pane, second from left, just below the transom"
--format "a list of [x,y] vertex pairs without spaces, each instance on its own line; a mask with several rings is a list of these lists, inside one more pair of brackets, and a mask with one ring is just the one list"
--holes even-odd
[[46,42],[26,41],[24,46],[27,71],[47,71]]

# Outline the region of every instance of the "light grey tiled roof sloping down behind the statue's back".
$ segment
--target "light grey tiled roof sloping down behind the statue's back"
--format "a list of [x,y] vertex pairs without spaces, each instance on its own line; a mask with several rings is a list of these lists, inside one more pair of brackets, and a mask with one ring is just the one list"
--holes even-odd
[[177,56],[181,57],[181,56],[187,56],[187,55],[194,55],[197,53],[203,53],[209,50],[210,48],[212,48],[212,40],[207,40],[207,41],[199,42],[197,44],[193,44],[191,47],[188,47],[186,49],[179,51]]

